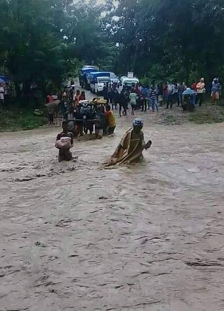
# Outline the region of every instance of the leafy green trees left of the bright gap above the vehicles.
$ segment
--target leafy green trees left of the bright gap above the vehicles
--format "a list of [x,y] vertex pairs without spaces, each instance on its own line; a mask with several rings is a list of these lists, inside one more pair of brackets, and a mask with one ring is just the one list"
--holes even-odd
[[0,0],[0,68],[17,97],[38,97],[102,58],[102,6],[95,1]]

